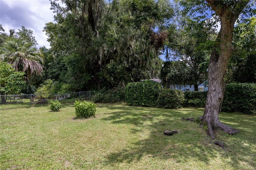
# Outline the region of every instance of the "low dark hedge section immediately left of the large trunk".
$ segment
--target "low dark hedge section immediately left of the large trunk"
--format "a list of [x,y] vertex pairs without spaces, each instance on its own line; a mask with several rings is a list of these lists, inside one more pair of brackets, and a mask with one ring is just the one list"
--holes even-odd
[[207,91],[185,91],[184,107],[205,107]]

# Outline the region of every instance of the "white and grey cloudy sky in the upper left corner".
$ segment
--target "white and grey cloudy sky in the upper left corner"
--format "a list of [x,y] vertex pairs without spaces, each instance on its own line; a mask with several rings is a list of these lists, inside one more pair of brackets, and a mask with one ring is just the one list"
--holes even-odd
[[6,33],[10,29],[18,31],[21,26],[25,26],[33,31],[37,47],[50,48],[43,32],[45,24],[54,21],[50,7],[49,0],[0,0],[0,24]]

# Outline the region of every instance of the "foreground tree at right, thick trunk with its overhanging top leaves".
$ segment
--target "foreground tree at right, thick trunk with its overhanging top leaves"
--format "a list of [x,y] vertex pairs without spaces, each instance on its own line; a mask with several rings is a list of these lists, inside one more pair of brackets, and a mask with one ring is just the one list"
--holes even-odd
[[[232,51],[232,38],[234,24],[241,13],[248,14],[250,6],[247,6],[249,0],[194,0],[182,1],[182,5],[193,15],[194,12],[202,14],[195,19],[206,19],[206,10],[212,10],[211,14],[220,21],[221,28],[214,42],[209,67],[208,67],[208,95],[204,115],[200,117],[202,122],[207,124],[207,134],[214,139],[214,130],[222,129],[228,134],[239,132],[224,123],[221,123],[218,114],[224,96],[224,75],[228,67]],[[250,4],[249,4],[250,5]],[[194,14],[195,16],[195,14]],[[207,24],[207,23],[206,23]]]

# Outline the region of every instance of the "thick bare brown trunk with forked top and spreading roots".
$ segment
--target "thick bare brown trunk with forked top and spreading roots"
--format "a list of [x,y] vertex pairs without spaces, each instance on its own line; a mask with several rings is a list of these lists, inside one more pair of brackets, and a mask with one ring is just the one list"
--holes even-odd
[[[201,117],[202,122],[207,123],[207,134],[214,139],[214,130],[224,130],[228,134],[238,133],[219,120],[219,111],[224,96],[224,75],[228,67],[228,61],[233,51],[232,37],[234,31],[234,23],[240,12],[234,13],[228,9],[220,1],[206,0],[208,5],[215,10],[220,16],[221,29],[216,39],[216,48],[212,50],[208,67],[208,95],[204,115]],[[241,8],[243,9],[244,6]],[[242,11],[242,10],[241,10]]]

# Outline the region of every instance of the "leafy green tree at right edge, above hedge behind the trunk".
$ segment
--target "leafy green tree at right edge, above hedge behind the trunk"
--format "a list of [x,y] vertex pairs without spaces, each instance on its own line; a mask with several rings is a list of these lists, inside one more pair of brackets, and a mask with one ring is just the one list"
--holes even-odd
[[234,28],[232,53],[228,66],[228,81],[256,83],[256,18]]

